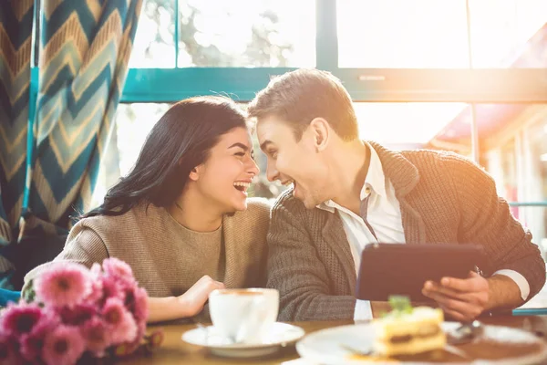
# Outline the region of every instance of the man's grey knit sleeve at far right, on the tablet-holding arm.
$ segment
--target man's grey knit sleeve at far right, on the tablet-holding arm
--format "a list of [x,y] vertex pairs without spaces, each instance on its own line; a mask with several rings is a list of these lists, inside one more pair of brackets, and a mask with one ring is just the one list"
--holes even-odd
[[447,159],[459,196],[461,242],[484,246],[490,261],[488,274],[511,269],[526,278],[530,295],[545,284],[545,262],[532,234],[511,214],[509,204],[496,192],[494,180],[480,167],[462,158]]

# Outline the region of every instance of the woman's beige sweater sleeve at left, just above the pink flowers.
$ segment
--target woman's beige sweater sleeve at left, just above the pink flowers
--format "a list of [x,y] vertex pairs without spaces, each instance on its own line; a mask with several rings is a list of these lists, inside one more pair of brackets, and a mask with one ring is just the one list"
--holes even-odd
[[36,266],[26,274],[23,291],[28,289],[31,280],[53,262],[73,262],[91,267],[96,262],[101,264],[105,258],[108,258],[108,250],[100,236],[93,229],[77,224],[70,231],[65,248],[52,262]]

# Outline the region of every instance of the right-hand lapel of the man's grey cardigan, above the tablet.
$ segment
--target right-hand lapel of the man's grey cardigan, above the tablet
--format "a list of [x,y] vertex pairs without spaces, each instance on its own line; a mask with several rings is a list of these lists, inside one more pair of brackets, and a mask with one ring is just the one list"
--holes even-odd
[[395,196],[401,208],[405,240],[408,244],[426,243],[426,224],[418,211],[408,203],[406,197],[419,182],[418,169],[401,153],[387,150],[373,141],[368,143],[377,151],[384,174],[395,189]]

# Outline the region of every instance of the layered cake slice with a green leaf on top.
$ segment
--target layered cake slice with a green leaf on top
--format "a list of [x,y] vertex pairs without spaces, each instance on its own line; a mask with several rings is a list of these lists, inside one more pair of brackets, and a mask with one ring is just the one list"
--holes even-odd
[[447,343],[439,308],[396,308],[384,318],[373,321],[374,351],[382,356],[415,355],[443,349]]

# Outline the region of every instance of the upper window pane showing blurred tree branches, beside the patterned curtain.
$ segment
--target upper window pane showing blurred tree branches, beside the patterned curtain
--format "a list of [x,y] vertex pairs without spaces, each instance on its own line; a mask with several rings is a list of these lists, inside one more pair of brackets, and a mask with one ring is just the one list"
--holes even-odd
[[315,2],[147,0],[134,43],[130,68],[314,67]]

